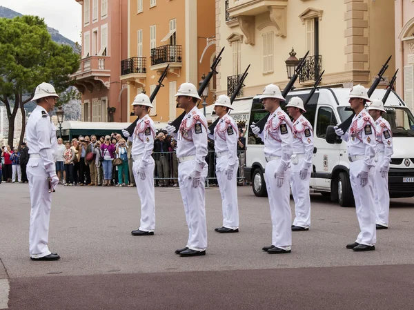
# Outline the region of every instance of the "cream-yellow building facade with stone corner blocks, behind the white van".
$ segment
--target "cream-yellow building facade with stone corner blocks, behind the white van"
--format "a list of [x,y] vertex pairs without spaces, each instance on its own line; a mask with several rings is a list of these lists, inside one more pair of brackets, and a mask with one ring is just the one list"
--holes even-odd
[[[299,59],[309,50],[295,86],[370,86],[394,49],[393,1],[215,0],[216,50],[226,46],[217,76],[217,95],[231,94],[237,76],[251,64],[243,96],[264,86],[286,86],[285,60],[294,48]],[[384,23],[384,21],[387,21]],[[384,77],[391,78],[395,61]]]

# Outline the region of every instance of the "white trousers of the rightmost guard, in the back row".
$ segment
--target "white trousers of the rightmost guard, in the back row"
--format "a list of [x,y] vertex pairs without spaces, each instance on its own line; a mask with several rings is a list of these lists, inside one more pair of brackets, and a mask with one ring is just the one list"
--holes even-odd
[[390,214],[390,194],[388,193],[388,174],[386,177],[382,177],[380,173],[380,168],[383,161],[384,156],[379,156],[378,162],[375,166],[375,215],[377,224],[388,227],[388,217]]

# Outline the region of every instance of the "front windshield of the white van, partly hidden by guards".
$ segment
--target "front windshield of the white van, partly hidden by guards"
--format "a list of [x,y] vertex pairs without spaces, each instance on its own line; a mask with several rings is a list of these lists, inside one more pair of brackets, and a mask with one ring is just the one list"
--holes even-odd
[[[414,137],[414,117],[408,108],[404,107],[385,107],[386,113],[382,117],[390,123],[393,136],[395,137]],[[352,110],[345,106],[338,108],[339,117],[342,122],[352,115]]]

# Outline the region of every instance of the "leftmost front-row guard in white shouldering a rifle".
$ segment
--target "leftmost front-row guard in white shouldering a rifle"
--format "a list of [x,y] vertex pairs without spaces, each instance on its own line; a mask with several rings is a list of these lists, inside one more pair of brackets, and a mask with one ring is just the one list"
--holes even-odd
[[[177,133],[178,182],[188,225],[188,242],[184,249],[177,249],[180,256],[206,255],[206,202],[204,183],[208,165],[206,163],[207,121],[196,104],[200,99],[191,83],[179,86],[177,94],[179,108],[186,112]],[[166,126],[175,136],[175,127]]]

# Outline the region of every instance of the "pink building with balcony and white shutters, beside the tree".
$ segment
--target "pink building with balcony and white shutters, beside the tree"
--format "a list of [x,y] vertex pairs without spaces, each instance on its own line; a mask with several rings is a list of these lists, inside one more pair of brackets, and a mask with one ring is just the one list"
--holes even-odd
[[121,59],[128,56],[128,0],[75,0],[82,6],[81,66],[72,76],[82,93],[83,122],[128,122]]

